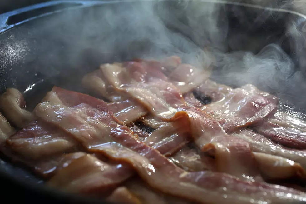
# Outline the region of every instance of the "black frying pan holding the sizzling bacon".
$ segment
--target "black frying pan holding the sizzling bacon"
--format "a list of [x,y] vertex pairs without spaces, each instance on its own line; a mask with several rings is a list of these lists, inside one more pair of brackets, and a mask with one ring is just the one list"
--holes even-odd
[[[257,53],[275,43],[293,60],[294,72],[303,75],[306,71],[306,16],[297,12],[223,1],[51,1],[0,15],[0,90],[15,87],[23,91],[32,109],[53,85],[83,92],[81,77],[101,63],[186,54],[190,52],[186,45],[203,48],[210,41],[201,38],[201,30],[190,25],[190,12],[186,14],[192,2],[203,8],[222,6],[217,25],[225,37],[213,45],[216,48]],[[148,6],[158,21],[146,18],[143,8]],[[147,22],[145,26],[140,17]],[[198,27],[205,26],[205,16],[192,19],[198,21],[193,22]],[[225,21],[228,27],[223,32]],[[156,22],[166,34],[156,31]],[[292,27],[295,32],[290,32]],[[186,43],[181,45],[169,36],[165,43],[169,33]],[[277,89],[267,91],[279,93]],[[303,108],[289,109],[305,118]],[[4,191],[16,194],[10,202],[21,197],[31,202],[101,203],[49,189],[5,159],[0,159],[0,178]],[[2,190],[2,194],[6,193]]]

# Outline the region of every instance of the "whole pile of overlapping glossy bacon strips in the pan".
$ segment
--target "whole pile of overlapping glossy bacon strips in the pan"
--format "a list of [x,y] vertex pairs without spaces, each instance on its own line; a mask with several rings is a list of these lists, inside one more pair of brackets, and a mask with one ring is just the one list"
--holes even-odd
[[82,84],[107,102],[53,87],[31,113],[16,89],[0,97],[0,150],[46,185],[129,204],[306,202],[306,122],[277,97],[177,56],[103,64]]

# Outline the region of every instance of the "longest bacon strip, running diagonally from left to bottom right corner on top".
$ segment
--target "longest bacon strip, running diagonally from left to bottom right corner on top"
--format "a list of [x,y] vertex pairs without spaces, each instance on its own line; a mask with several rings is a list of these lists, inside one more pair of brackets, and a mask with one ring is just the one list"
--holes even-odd
[[[80,111],[84,110],[83,108]],[[84,130],[88,127],[84,126],[84,122],[81,124],[77,122],[80,118],[77,118],[76,115],[69,117],[70,114],[64,113],[64,110],[69,111],[65,107],[47,107],[45,103],[37,106],[35,112],[39,117],[43,117],[45,120],[57,124],[67,132],[70,132],[83,145],[87,144],[88,150],[104,153],[106,156],[118,161],[128,162],[146,182],[165,193],[186,197],[201,203],[219,203],[225,201],[225,199],[227,202],[235,203],[247,203],[250,199],[255,201],[267,201],[269,199],[279,203],[282,203],[282,201],[288,203],[304,199],[303,196],[305,195],[302,192],[289,188],[256,182],[243,182],[237,178],[216,172],[185,172],[169,162],[158,151],[133,138],[134,136],[131,135],[130,130],[126,126],[115,127],[111,131],[111,137],[108,139],[105,136],[101,136],[101,134],[88,134],[95,132],[86,131],[87,134],[82,134],[80,133],[82,131],[77,130],[80,128]],[[58,117],[57,114],[52,112],[58,113],[62,117]],[[46,115],[48,117],[44,117]],[[69,121],[68,125],[66,124],[66,119],[64,119],[65,117],[69,118],[67,120],[67,122]],[[104,115],[104,117],[107,116]],[[72,121],[73,118],[77,118],[77,120],[74,119]],[[106,122],[106,120],[103,121]],[[113,126],[112,123],[109,126]],[[103,127],[105,128],[105,126]],[[88,136],[84,137],[86,135]],[[112,141],[119,142],[121,145]],[[169,173],[170,175],[168,175]],[[224,191],[220,187],[226,187],[227,190]],[[248,189],[247,193],[245,189]],[[288,199],[285,196],[281,196],[280,192],[291,193],[294,195],[294,198]],[[227,195],[227,198],[223,197],[224,194]],[[240,199],[237,200],[237,196]]]

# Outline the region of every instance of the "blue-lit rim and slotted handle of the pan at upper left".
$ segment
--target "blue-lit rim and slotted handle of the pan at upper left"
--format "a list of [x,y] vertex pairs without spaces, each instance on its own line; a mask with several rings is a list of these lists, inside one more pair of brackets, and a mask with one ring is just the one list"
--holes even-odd
[[0,33],[4,32],[16,25],[30,21],[37,17],[50,15],[52,13],[61,12],[67,9],[78,7],[88,7],[96,4],[106,4],[114,1],[50,1],[23,7],[14,11],[0,14]]

